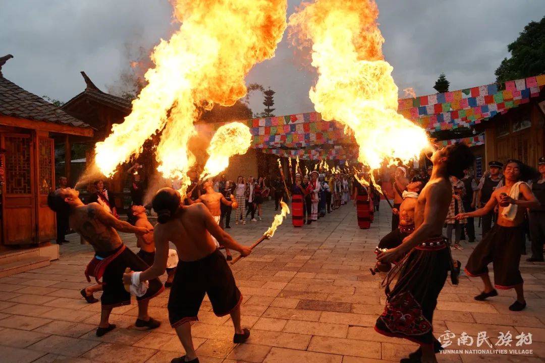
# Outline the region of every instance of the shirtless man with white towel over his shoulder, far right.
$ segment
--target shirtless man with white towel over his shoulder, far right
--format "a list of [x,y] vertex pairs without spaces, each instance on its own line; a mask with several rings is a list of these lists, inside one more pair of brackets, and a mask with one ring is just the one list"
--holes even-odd
[[471,255],[465,273],[468,276],[480,276],[485,290],[475,300],[497,296],[498,292],[490,282],[488,264],[494,263],[494,285],[501,290],[514,288],[517,300],[509,306],[511,311],[520,311],[526,307],[523,280],[520,275],[520,247],[524,244],[524,212],[526,208],[536,208],[540,203],[530,190],[526,180],[533,175],[531,168],[518,160],[510,160],[505,165],[505,186],[492,193],[487,204],[471,213],[458,214],[458,219],[481,217],[499,206],[498,220],[493,229],[477,244]]

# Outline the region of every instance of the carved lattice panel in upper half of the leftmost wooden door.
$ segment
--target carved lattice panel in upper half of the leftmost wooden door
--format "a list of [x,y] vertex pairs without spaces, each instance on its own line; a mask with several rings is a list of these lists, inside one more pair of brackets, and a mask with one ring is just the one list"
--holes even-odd
[[7,194],[31,194],[31,138],[5,138],[5,190]]

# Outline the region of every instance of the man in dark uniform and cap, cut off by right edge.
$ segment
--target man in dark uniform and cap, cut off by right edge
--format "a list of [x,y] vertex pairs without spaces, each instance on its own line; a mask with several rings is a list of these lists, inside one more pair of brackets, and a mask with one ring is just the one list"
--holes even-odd
[[531,208],[530,237],[532,240],[532,257],[528,262],[543,262],[543,243],[545,243],[545,156],[540,157],[537,169],[541,176],[532,180],[532,193],[540,201],[541,206]]

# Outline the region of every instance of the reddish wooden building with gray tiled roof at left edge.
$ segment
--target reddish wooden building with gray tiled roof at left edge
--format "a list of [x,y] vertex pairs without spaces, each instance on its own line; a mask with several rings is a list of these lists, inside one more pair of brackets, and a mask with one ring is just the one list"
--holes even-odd
[[53,139],[93,136],[85,122],[4,78],[7,57],[0,58],[0,249],[56,238],[47,207],[56,188]]

